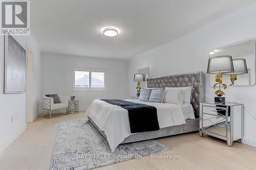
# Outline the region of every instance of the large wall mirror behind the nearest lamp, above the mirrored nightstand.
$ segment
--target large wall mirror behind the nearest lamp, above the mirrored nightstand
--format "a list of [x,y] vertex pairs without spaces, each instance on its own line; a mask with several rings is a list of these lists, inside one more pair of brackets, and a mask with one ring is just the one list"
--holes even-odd
[[[231,83],[230,74],[223,74],[223,83],[228,86],[252,86],[255,84],[255,41],[249,40],[242,43],[236,43],[233,45],[228,45],[225,47],[217,48],[216,50],[212,50],[209,52],[209,57],[215,56],[232,56],[234,69],[240,69],[243,66],[247,69],[247,72],[243,72],[241,74],[236,74],[237,80],[234,84]],[[245,59],[245,60],[244,60]],[[246,65],[239,65],[238,61],[245,61]],[[247,68],[246,68],[247,67]],[[234,72],[235,73],[235,72]],[[231,73],[232,74],[232,73]],[[213,86],[215,82],[214,74],[209,75],[210,77],[210,86]]]

